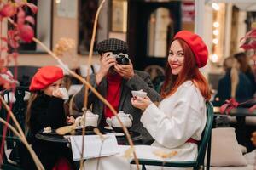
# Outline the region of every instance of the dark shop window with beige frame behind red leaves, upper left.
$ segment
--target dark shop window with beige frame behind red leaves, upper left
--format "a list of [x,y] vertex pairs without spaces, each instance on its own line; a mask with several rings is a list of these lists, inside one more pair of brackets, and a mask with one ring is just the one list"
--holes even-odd
[[[52,1],[45,0],[27,0],[28,3],[33,3],[38,6],[38,13],[33,14],[30,8],[24,8],[26,14],[31,15],[35,19],[34,29],[35,37],[44,43],[48,48],[51,48],[52,36]],[[15,19],[14,19],[15,20]],[[9,24],[9,27],[12,25]],[[18,48],[20,54],[30,53],[45,53],[36,42],[20,42]]]

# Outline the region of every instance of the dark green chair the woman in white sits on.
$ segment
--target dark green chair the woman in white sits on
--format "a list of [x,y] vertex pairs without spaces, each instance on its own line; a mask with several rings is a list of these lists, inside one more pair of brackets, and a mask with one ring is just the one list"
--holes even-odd
[[[143,170],[146,165],[160,167],[193,167],[194,170],[203,169],[205,167],[204,160],[207,153],[207,170],[210,169],[211,156],[211,138],[212,138],[212,121],[213,107],[210,102],[207,102],[207,124],[201,136],[201,142],[198,144],[198,156],[195,161],[156,161],[149,159],[138,159],[139,164],[143,165]],[[135,161],[131,161],[135,164]]]

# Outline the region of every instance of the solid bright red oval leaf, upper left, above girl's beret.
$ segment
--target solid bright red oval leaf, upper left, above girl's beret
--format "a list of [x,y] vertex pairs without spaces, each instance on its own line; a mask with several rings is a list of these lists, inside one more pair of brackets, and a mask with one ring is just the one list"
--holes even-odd
[[32,42],[32,38],[34,37],[34,31],[31,26],[18,26],[18,31],[21,40],[23,40],[24,42]]

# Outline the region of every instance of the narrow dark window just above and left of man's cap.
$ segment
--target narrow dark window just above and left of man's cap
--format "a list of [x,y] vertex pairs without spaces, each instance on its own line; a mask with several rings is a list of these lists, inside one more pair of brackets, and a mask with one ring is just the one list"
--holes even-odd
[[[92,37],[97,8],[98,0],[79,1],[79,54],[89,53],[90,40]],[[94,48],[96,48],[96,41],[94,44]]]

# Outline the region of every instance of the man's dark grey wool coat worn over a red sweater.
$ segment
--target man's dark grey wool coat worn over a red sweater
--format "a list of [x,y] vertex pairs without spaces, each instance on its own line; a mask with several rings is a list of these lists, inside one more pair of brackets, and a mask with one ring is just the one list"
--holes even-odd
[[[106,96],[107,94],[107,78],[104,77],[102,82],[99,85],[96,85],[96,75],[90,75],[90,84],[98,90],[102,96]],[[131,114],[133,116],[133,122],[131,131],[135,131],[137,133],[141,133],[143,135],[143,144],[152,143],[154,140],[151,135],[148,133],[147,129],[143,127],[142,122],[140,122],[140,118],[142,116],[142,111],[133,107],[131,105],[131,90],[140,90],[143,89],[144,92],[148,93],[148,97],[153,101],[160,101],[160,94],[158,94],[154,90],[154,85],[151,82],[151,79],[147,72],[145,71],[135,71],[134,77],[129,80],[123,79],[122,87],[121,87],[121,95],[119,102],[119,111],[125,111],[125,113]],[[78,94],[74,97],[74,104],[82,109],[84,105],[84,87],[79,91]],[[92,112],[99,115],[99,127],[102,126],[103,122],[105,122],[103,111],[104,105],[102,101],[96,98],[96,95],[89,91],[88,96],[88,108],[92,105]]]

